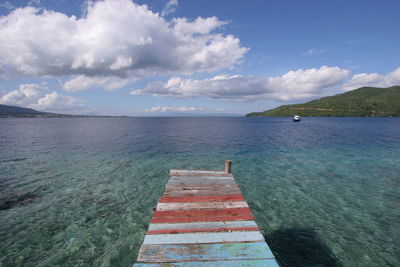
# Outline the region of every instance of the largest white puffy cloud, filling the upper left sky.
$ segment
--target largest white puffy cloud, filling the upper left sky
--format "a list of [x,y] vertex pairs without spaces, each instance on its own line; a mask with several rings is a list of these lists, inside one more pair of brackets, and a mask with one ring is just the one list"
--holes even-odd
[[0,74],[141,78],[215,71],[248,50],[217,32],[224,24],[216,17],[166,20],[131,0],[89,1],[80,18],[17,8],[0,17]]

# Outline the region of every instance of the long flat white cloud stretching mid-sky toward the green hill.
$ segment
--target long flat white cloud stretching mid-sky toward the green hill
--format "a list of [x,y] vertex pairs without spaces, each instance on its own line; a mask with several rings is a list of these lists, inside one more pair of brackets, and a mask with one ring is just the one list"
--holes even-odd
[[240,75],[217,75],[194,80],[173,77],[167,82],[152,82],[132,95],[151,94],[172,97],[208,97],[232,100],[296,100],[321,96],[326,89],[343,82],[349,71],[339,67],[289,71],[278,77],[256,78]]

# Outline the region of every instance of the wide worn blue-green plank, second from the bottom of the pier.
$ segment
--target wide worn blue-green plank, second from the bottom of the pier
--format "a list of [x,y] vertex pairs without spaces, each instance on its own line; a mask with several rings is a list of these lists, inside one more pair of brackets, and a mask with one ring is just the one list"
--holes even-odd
[[183,262],[241,259],[270,259],[273,254],[265,242],[188,244],[188,245],[143,245],[139,261]]

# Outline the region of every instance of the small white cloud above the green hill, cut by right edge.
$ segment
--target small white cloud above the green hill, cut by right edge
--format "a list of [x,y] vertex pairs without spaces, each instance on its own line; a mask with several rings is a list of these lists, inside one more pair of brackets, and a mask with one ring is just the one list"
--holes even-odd
[[343,90],[350,91],[364,86],[390,87],[400,85],[400,68],[383,75],[378,73],[355,74],[350,81],[343,85]]

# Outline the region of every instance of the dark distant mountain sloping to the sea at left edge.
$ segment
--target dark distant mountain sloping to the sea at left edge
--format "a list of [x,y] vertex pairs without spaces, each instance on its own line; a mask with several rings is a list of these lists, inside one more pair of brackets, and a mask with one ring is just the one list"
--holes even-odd
[[31,108],[22,108],[17,106],[0,105],[0,118],[19,117],[19,118],[60,118],[76,117],[74,115],[56,114],[37,111]]

